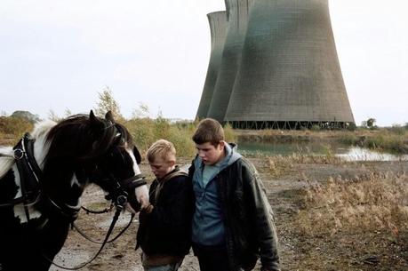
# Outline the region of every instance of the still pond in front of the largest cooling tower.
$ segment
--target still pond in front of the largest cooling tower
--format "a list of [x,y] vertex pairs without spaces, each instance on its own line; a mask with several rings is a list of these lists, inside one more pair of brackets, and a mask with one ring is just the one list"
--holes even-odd
[[241,142],[238,151],[243,155],[335,155],[347,161],[408,161],[408,155],[380,153],[363,147],[321,142]]

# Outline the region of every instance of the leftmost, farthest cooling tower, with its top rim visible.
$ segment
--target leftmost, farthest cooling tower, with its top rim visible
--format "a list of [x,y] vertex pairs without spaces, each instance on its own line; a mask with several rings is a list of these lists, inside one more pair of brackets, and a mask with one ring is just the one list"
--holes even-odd
[[212,12],[207,14],[211,30],[211,54],[208,64],[207,76],[205,77],[204,90],[201,94],[200,105],[196,117],[203,119],[208,114],[215,82],[217,81],[220,68],[222,49],[224,48],[227,33],[226,12]]

